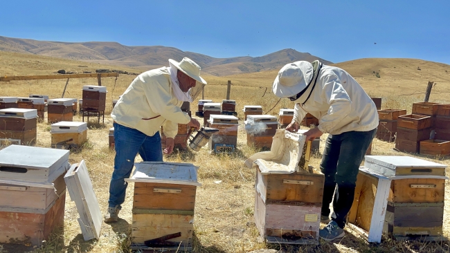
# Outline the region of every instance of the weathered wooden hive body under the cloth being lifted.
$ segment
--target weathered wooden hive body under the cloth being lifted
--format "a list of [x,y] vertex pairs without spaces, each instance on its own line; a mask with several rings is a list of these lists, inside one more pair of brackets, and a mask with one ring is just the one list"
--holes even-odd
[[314,173],[262,174],[255,182],[255,224],[269,243],[317,244],[323,182]]

